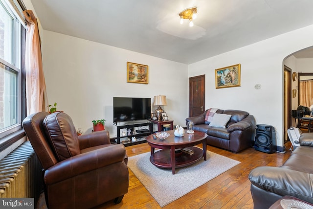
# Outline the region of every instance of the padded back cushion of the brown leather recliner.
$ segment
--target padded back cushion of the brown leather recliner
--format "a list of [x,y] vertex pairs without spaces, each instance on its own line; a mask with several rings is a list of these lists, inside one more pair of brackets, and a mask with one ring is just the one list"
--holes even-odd
[[43,127],[59,161],[80,154],[76,129],[67,114],[55,112],[47,115],[43,121]]

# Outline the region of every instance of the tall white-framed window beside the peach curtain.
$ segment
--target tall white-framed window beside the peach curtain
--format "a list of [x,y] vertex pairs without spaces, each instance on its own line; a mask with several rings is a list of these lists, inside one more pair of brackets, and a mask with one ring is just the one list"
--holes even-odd
[[10,0],[0,0],[0,139],[22,128],[24,23],[17,16]]

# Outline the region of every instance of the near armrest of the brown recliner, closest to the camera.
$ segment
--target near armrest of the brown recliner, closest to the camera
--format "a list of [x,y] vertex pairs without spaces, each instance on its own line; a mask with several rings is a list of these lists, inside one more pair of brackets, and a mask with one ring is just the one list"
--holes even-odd
[[113,163],[122,163],[125,155],[124,145],[116,144],[73,156],[46,169],[45,184],[61,182]]

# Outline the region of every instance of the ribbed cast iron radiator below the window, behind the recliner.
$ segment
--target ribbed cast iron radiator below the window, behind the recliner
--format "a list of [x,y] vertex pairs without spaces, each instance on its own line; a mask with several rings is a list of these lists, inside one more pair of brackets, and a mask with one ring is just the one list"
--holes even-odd
[[0,161],[0,198],[35,198],[43,189],[42,166],[29,141]]

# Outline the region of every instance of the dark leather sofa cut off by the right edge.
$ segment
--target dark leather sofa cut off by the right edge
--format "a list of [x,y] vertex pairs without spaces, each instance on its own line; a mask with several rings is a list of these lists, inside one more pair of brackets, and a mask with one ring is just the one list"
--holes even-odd
[[283,196],[293,196],[313,204],[313,133],[299,138],[281,167],[261,166],[250,171],[254,209],[266,209]]

